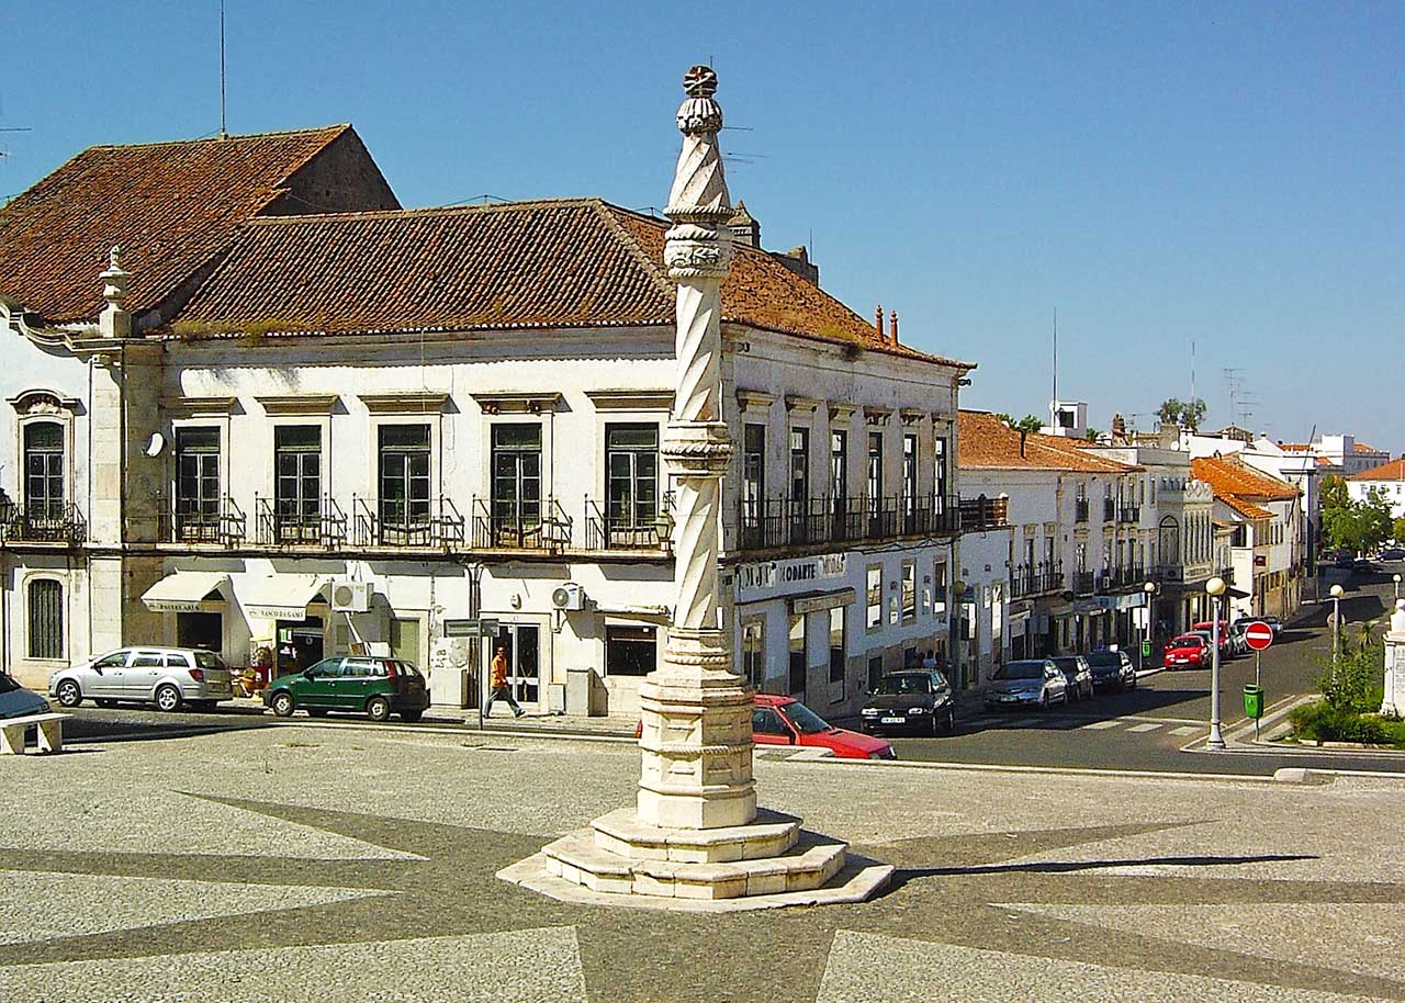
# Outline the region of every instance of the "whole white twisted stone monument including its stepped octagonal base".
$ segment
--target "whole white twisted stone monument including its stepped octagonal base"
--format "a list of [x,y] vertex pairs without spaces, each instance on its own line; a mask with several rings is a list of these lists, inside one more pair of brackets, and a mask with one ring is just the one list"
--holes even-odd
[[665,209],[663,251],[677,291],[677,376],[663,457],[674,490],[674,590],[663,667],[639,691],[642,768],[636,808],[596,819],[499,872],[552,898],[665,909],[764,909],[858,902],[892,868],[757,813],[752,691],[732,671],[719,620],[722,475],[732,442],[722,419],[722,280],[732,260],[732,204],[717,133],[717,74],[694,66],[677,114],[683,133]]

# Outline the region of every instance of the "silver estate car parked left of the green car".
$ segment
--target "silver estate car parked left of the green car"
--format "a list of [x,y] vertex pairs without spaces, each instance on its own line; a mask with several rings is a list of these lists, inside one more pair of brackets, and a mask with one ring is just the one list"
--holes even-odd
[[98,707],[138,702],[178,711],[185,704],[209,709],[233,693],[229,667],[215,652],[139,646],[60,669],[49,676],[49,695],[63,707],[94,700]]

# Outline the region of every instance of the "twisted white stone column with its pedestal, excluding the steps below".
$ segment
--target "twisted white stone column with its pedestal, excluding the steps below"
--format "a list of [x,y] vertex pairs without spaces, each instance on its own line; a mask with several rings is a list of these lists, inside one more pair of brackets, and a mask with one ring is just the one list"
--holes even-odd
[[732,260],[732,204],[717,132],[717,74],[694,66],[679,107],[683,152],[665,209],[663,263],[677,281],[677,375],[663,457],[676,480],[674,608],[663,667],[639,690],[643,716],[639,822],[711,829],[756,816],[752,694],[733,676],[718,621],[722,475],[722,280]]

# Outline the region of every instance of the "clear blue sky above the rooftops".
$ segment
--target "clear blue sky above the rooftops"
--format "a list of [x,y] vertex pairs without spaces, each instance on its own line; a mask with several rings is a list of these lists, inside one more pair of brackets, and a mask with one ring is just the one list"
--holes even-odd
[[[230,132],[355,124],[405,205],[662,205],[711,60],[733,198],[825,288],[1093,424],[1225,367],[1279,438],[1405,450],[1405,4],[228,0]],[[0,195],[218,129],[218,0],[11,0]],[[745,160],[745,162],[743,162]],[[1149,421],[1141,419],[1141,423]]]

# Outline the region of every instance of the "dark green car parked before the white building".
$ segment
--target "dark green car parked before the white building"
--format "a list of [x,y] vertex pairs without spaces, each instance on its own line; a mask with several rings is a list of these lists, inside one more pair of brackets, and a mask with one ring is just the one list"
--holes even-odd
[[388,721],[392,714],[419,721],[430,694],[424,676],[409,662],[351,655],[322,659],[311,669],[274,680],[263,701],[280,718],[302,709],[315,718],[354,711],[371,721]]

